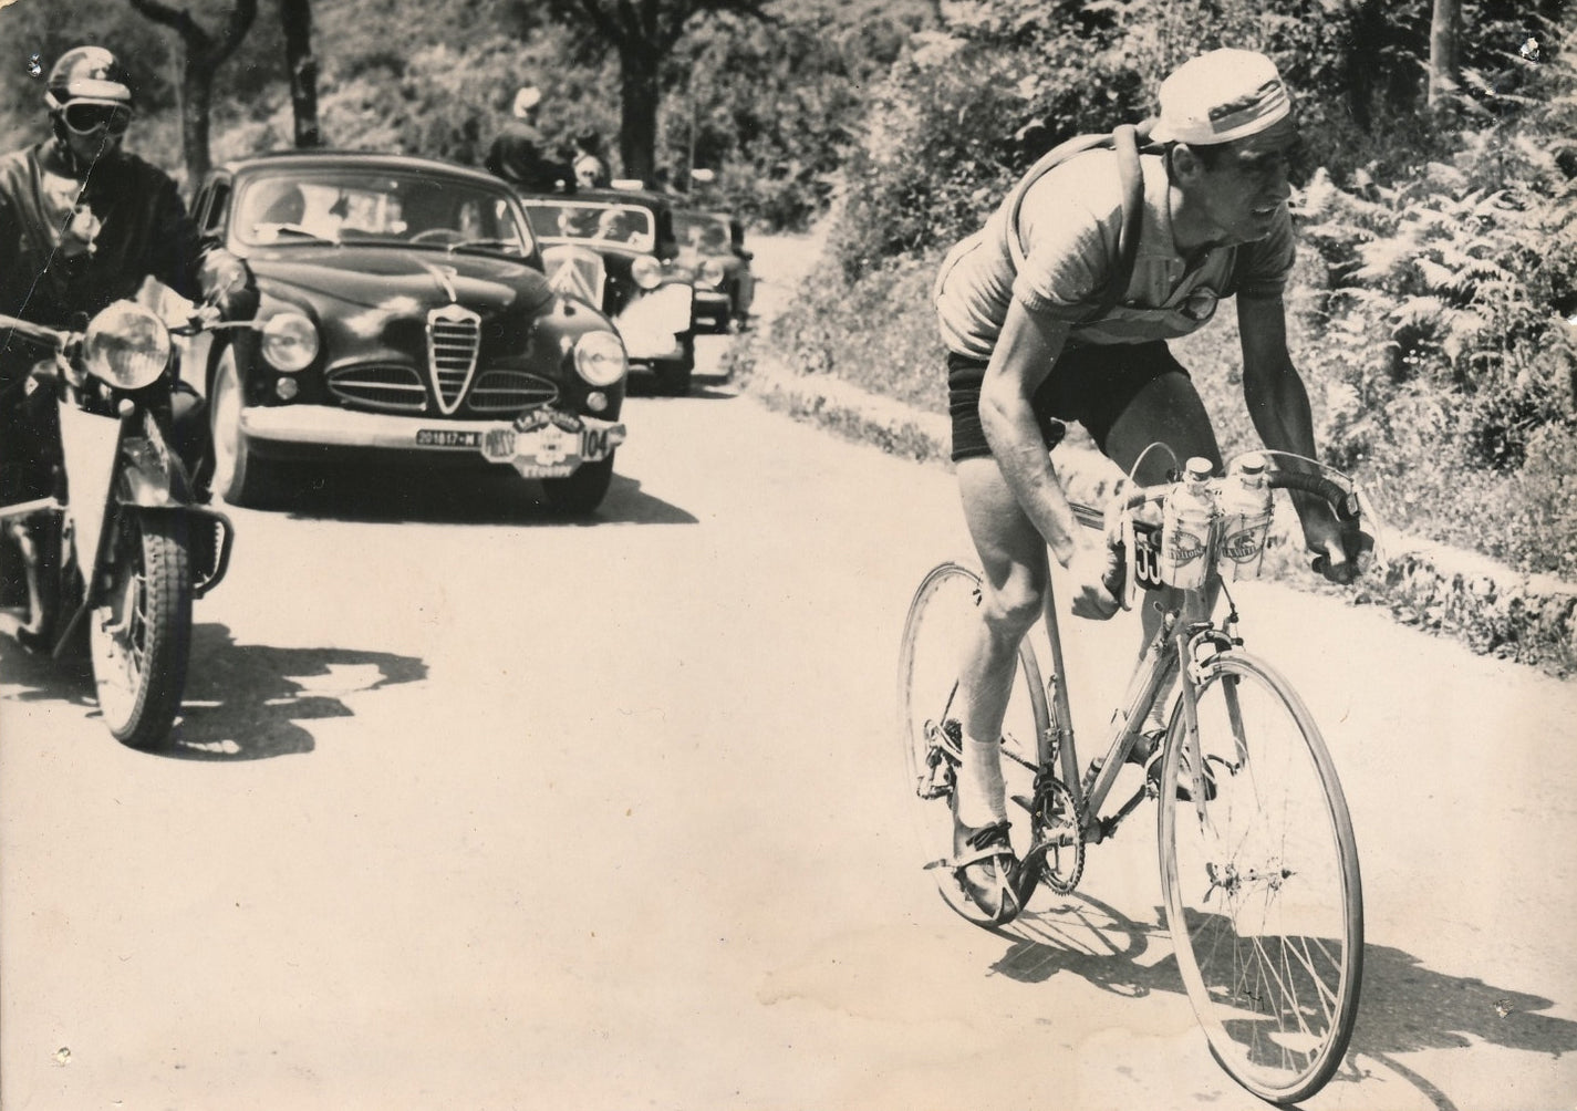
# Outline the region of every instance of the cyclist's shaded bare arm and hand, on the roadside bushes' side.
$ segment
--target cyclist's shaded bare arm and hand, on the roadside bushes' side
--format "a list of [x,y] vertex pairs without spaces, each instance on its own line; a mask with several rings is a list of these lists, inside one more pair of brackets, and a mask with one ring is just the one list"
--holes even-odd
[[[1243,400],[1266,448],[1315,459],[1309,392],[1287,351],[1287,315],[1281,298],[1238,298],[1243,337]],[[1331,507],[1307,493],[1293,493],[1304,544],[1328,558],[1328,577],[1342,582],[1347,552]]]

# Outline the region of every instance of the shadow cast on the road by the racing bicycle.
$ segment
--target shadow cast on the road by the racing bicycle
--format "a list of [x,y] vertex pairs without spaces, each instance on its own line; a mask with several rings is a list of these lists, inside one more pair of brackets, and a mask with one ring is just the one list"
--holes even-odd
[[[1156,922],[1161,920],[1158,908]],[[1042,983],[1068,972],[1120,996],[1183,994],[1165,927],[1135,922],[1088,897],[1074,895],[1058,908],[1025,914],[1000,933],[1012,941],[992,964],[1000,975]],[[1165,949],[1161,960],[1150,953],[1153,942]],[[1440,1087],[1396,1061],[1396,1054],[1479,1043],[1553,1056],[1577,1051],[1577,1023],[1541,1013],[1553,1005],[1552,999],[1497,988],[1478,977],[1437,972],[1391,946],[1366,946],[1358,1023],[1347,1061],[1331,1083],[1363,1081],[1361,1059],[1370,1057],[1438,1111],[1459,1111]]]

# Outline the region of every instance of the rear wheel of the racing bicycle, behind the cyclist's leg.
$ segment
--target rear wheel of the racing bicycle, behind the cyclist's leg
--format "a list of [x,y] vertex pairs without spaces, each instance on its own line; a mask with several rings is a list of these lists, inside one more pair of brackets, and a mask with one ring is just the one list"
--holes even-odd
[[[953,857],[951,799],[960,756],[959,662],[970,630],[979,621],[979,574],[957,563],[932,567],[919,583],[899,648],[897,715],[910,813],[924,864],[948,906],[970,922],[986,925],[990,916],[981,914],[965,898],[953,870],[945,867]],[[1025,641],[1019,649],[1019,676],[1001,731],[1003,778],[1009,799],[1033,796],[1038,738],[1046,723],[1041,670]],[[1014,848],[1023,856],[1030,845],[1028,815],[1009,816],[1014,818]]]

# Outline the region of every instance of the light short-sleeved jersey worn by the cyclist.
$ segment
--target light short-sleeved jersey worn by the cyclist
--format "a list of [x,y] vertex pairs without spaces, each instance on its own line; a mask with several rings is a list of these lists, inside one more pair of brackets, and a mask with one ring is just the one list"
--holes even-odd
[[[1101,312],[1117,265],[1123,186],[1117,153],[1077,154],[1030,186],[1019,210],[1023,265],[1014,269],[1003,225],[1006,206],[959,243],[937,274],[934,296],[943,345],[990,359],[1008,304],[1076,321],[1071,345],[1143,344],[1186,336],[1225,296],[1274,298],[1293,263],[1292,217],[1282,205],[1263,240],[1184,258],[1172,238],[1170,183],[1158,154],[1142,154],[1143,216],[1128,288]],[[1098,318],[1091,318],[1098,317]]]

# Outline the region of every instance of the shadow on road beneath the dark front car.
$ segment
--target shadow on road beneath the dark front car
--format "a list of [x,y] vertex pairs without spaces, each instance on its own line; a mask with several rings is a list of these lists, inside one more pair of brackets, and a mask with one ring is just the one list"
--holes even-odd
[[694,525],[695,517],[640,489],[637,479],[613,471],[613,484],[588,517],[555,514],[541,487],[506,468],[498,473],[303,468],[284,512],[292,520],[337,520],[369,525],[509,525],[571,528],[596,525]]

